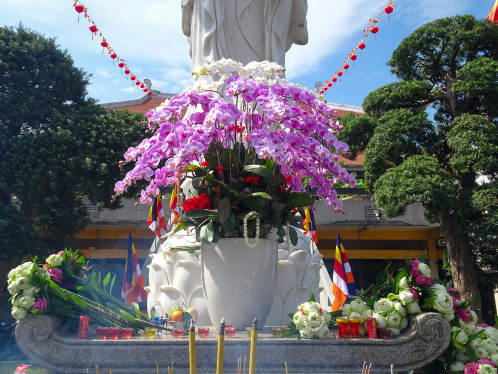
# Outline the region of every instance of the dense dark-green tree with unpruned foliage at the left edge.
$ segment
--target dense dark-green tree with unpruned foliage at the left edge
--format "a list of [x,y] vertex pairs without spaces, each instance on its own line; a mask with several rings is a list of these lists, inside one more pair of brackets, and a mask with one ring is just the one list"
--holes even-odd
[[[88,76],[53,38],[0,28],[0,281],[26,254],[74,244],[90,221],[83,197],[106,208],[127,144],[145,117],[87,99]],[[3,288],[3,287],[2,287]]]

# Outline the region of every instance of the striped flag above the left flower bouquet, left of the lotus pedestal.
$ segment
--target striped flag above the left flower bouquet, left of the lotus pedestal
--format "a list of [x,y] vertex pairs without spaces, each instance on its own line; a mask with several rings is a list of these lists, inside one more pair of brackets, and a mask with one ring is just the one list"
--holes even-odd
[[133,245],[133,239],[128,232],[128,255],[126,257],[126,264],[124,265],[123,290],[121,291],[124,302],[128,304],[135,302],[138,304],[140,301],[147,300],[147,293],[143,287],[144,284],[140,265],[138,265],[138,257],[135,246]]

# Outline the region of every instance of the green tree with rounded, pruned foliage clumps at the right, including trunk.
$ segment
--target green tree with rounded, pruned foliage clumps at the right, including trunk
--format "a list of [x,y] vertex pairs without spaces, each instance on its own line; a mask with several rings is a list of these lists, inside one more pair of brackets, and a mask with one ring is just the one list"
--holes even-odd
[[[364,100],[374,129],[368,145],[359,142],[365,120],[342,123],[350,142],[366,148],[367,187],[383,213],[401,215],[420,202],[440,224],[467,299],[478,294],[479,279],[498,285],[497,41],[498,26],[472,15],[421,26],[387,63],[400,81]],[[479,298],[473,307],[480,309]]]

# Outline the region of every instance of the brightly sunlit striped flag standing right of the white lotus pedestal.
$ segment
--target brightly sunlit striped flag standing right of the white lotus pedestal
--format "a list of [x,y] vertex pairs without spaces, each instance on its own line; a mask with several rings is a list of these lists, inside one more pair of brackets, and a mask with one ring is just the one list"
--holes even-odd
[[355,278],[353,278],[341,237],[337,234],[336,259],[332,277],[332,311],[341,309],[349,295],[356,295]]

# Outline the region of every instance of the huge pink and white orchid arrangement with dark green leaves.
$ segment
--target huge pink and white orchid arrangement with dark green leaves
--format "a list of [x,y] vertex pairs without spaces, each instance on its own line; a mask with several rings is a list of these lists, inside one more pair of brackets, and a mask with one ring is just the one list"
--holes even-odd
[[149,184],[140,203],[151,203],[159,187],[179,181],[187,199],[206,193],[206,205],[214,210],[185,212],[177,226],[196,227],[206,242],[239,236],[248,214],[253,225],[257,220],[277,227],[282,239],[289,224],[301,225],[295,208],[304,214],[299,208],[314,202],[308,186],[342,211],[334,184],[356,186],[339,165],[338,155],[348,151],[337,139],[342,126],[320,97],[280,79],[282,70],[267,62],[242,66],[232,60],[203,67],[196,76],[219,79],[147,113],[152,135],[124,154],[121,167],[134,166],[116,183],[116,195],[142,179]]

